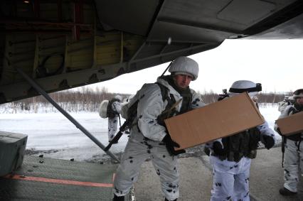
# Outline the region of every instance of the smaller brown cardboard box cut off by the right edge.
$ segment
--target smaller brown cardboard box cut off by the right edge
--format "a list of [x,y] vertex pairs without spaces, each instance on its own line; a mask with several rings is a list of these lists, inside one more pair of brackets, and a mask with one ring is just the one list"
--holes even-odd
[[277,126],[279,126],[281,133],[285,136],[303,132],[303,112],[277,119],[276,123]]

